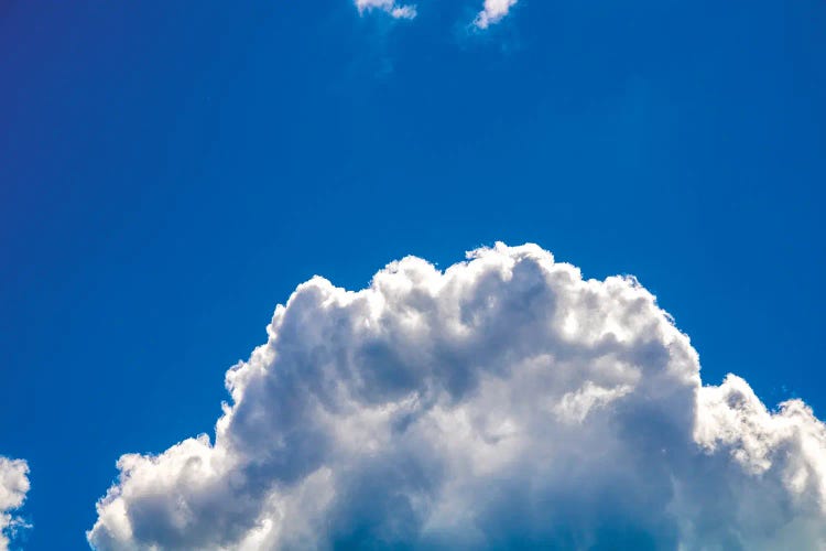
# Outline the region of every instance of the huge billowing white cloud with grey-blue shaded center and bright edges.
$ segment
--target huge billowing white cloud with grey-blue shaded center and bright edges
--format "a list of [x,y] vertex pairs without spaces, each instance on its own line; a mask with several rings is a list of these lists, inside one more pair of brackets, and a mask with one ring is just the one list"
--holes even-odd
[[824,424],[703,386],[633,278],[533,245],[409,257],[301,284],[268,335],[214,441],[119,460],[95,548],[826,545]]

